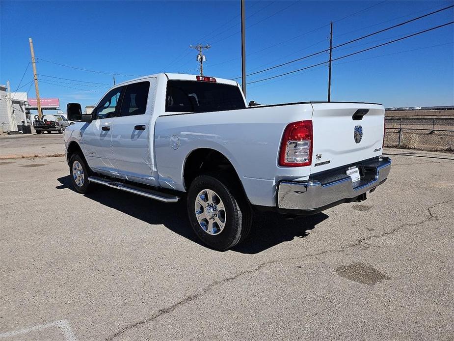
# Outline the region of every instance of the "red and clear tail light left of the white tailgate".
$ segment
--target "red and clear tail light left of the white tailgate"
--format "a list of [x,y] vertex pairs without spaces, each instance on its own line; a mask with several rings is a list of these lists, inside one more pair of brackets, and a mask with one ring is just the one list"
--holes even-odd
[[284,130],[279,166],[302,167],[312,163],[312,121],[290,123]]

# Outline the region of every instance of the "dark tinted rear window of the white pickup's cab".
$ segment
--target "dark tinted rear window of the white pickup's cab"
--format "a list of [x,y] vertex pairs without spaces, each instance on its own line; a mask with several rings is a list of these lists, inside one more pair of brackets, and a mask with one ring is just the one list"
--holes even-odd
[[166,112],[204,113],[245,108],[240,88],[236,85],[200,81],[167,82]]

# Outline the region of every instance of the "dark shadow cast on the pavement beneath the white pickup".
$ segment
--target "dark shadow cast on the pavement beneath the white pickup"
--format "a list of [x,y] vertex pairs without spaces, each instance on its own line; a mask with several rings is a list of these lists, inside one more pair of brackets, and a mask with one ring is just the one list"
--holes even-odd
[[[56,187],[57,189],[74,191],[70,175],[57,180],[61,183]],[[96,191],[84,196],[147,224],[162,224],[182,237],[207,247],[195,236],[189,225],[185,200],[178,203],[162,203],[101,185],[97,185]],[[232,251],[242,254],[257,254],[280,243],[292,241],[295,237],[303,238],[309,234],[309,230],[315,228],[326,218],[328,216],[324,213],[297,217],[293,220],[287,220],[277,213],[255,214],[249,237]]]

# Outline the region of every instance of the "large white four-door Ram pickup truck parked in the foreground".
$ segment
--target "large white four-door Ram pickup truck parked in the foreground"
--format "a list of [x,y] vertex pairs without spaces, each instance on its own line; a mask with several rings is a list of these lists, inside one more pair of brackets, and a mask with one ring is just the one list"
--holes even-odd
[[[78,103],[67,114],[82,121]],[[309,215],[366,199],[391,168],[383,138],[381,104],[247,107],[234,81],[168,73],[115,85],[64,132],[78,192],[95,183],[186,197],[195,233],[216,250],[247,237],[254,211]]]

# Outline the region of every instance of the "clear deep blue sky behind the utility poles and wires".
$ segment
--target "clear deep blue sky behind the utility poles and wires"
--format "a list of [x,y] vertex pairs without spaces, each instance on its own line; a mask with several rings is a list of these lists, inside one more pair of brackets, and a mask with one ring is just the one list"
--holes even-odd
[[[334,22],[333,44],[337,45],[452,4],[454,1],[246,1],[247,72],[329,47],[330,21]],[[112,85],[113,76],[107,73],[122,74],[115,76],[117,83],[159,72],[197,74],[196,51],[188,48],[190,44],[212,45],[205,53],[205,75],[230,79],[241,74],[239,0],[1,1],[0,6],[0,83],[9,80],[12,91],[17,88],[30,61],[28,37],[32,37],[35,55],[41,59],[37,63],[42,75],[41,97],[58,97],[62,108],[68,102],[95,104]],[[335,49],[333,58],[453,20],[451,8]],[[450,25],[333,62],[331,100],[380,102],[386,107],[453,105],[453,32]],[[323,53],[250,76],[247,82],[327,58]],[[262,104],[323,101],[327,77],[328,68],[321,65],[250,84],[247,100]],[[31,79],[29,65],[21,86]],[[32,84],[19,91],[27,90],[29,97],[35,97]]]

